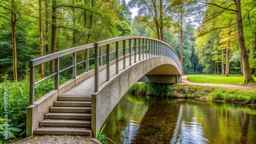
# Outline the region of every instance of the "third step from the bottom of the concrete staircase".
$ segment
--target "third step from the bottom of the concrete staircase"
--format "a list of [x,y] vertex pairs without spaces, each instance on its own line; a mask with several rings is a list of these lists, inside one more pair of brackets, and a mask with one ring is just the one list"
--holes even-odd
[[49,112],[45,114],[45,118],[50,119],[91,119],[90,113],[54,113]]

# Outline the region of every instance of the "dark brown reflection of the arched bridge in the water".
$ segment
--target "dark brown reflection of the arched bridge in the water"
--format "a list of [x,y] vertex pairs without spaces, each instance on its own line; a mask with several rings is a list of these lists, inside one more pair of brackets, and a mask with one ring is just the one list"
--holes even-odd
[[[170,106],[172,105],[172,106]],[[148,107],[133,143],[168,143],[174,134],[179,105],[157,102]]]

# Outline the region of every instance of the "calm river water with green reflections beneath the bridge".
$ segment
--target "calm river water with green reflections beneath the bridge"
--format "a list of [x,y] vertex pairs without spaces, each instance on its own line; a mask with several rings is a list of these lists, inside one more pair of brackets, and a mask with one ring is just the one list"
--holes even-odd
[[[116,143],[256,143],[256,107],[211,101],[141,101],[125,94],[105,121]],[[111,143],[111,142],[110,142]]]

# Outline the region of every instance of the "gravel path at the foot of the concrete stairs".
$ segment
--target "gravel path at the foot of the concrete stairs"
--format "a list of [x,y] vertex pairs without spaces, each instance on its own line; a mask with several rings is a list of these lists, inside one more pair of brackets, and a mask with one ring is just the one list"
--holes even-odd
[[[101,144],[97,139],[89,136],[70,136],[70,135],[36,135],[28,139],[17,142],[21,144]],[[15,143],[16,144],[16,143]]]

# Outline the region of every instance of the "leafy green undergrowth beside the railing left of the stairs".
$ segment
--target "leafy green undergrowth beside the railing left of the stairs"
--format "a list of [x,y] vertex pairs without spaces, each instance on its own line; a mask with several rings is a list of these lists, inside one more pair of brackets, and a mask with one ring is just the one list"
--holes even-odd
[[[35,81],[41,80],[40,75],[35,76]],[[60,83],[66,81],[66,79],[60,78]],[[19,136],[25,136],[26,134],[26,114],[27,107],[29,106],[29,74],[25,75],[23,80],[18,82],[12,82],[7,79],[0,83],[0,95],[4,95],[5,87],[8,87],[8,122],[10,124],[10,132],[15,132],[21,129]],[[38,100],[42,95],[45,95],[49,91],[54,89],[53,79],[48,79],[35,87],[35,100]],[[4,103],[4,99],[0,99],[0,103]],[[0,117],[4,116],[4,107],[0,107]],[[13,137],[10,137],[13,138]]]

